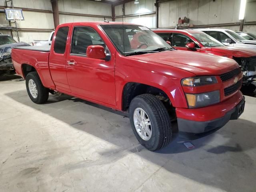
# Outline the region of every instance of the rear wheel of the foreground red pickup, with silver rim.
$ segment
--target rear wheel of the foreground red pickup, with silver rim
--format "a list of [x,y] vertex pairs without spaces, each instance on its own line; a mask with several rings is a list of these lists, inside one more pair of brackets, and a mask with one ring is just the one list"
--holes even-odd
[[26,76],[26,88],[28,96],[34,103],[42,104],[48,100],[49,90],[43,86],[37,72],[30,72]]

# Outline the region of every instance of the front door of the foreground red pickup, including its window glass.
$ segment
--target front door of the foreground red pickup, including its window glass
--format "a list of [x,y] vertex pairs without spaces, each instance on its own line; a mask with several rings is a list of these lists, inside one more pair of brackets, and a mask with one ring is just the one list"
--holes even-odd
[[92,100],[116,106],[114,58],[109,61],[86,57],[90,45],[101,45],[109,52],[100,35],[90,27],[75,26],[66,72],[71,92]]

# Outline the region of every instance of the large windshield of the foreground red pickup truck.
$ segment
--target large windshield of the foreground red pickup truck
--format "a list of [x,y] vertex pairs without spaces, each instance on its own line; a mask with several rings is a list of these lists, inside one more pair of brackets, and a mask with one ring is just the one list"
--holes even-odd
[[157,52],[160,51],[159,48],[174,50],[160,36],[144,26],[102,25],[101,28],[124,56],[132,55],[133,53]]

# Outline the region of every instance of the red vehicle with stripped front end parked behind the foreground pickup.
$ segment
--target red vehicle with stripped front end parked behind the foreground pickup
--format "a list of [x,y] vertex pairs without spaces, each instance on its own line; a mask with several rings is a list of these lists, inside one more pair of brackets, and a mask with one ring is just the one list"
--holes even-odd
[[153,31],[164,40],[171,42],[171,45],[178,50],[214,54],[234,59],[244,74],[244,85],[249,85],[256,78],[256,51],[254,49],[226,46],[212,36],[197,30],[156,29]]

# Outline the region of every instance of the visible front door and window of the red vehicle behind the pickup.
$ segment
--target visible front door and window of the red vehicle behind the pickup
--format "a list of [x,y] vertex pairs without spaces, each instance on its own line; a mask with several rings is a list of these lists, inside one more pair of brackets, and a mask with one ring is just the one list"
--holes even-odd
[[[195,49],[188,49],[186,48],[187,43],[194,43]],[[178,50],[185,50],[185,51],[198,51],[200,52],[200,46],[194,42],[190,37],[180,34],[180,33],[172,33],[171,37],[171,44],[174,48]]]

